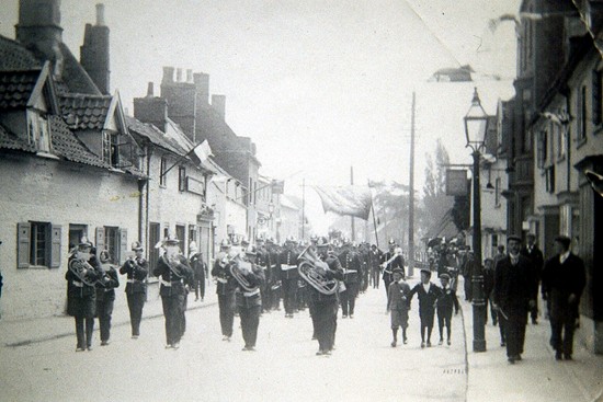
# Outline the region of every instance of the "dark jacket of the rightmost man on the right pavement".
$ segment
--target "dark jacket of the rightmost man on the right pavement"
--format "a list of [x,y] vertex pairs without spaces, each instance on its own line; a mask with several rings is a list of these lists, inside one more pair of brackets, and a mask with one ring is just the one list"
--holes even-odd
[[[570,253],[562,264],[559,255],[548,260],[543,269],[543,296],[550,301],[550,315],[574,318],[585,283],[584,263],[578,255]],[[570,303],[572,294],[576,300]]]

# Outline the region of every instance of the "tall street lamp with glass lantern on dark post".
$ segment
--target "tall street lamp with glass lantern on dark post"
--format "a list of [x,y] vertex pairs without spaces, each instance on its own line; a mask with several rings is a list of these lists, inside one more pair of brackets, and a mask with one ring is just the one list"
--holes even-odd
[[483,298],[483,271],[481,268],[481,194],[479,188],[479,158],[485,147],[488,129],[488,115],[477,94],[474,92],[471,107],[464,117],[467,147],[474,157],[474,269],[473,269],[473,306],[474,306],[474,352],[486,352],[486,302]]

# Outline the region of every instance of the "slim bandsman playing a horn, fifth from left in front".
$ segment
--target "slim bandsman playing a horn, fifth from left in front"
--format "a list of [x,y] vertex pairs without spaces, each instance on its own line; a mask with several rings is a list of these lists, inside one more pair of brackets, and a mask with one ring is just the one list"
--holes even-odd
[[232,324],[235,321],[235,289],[237,282],[230,275],[228,267],[229,251],[230,242],[228,239],[224,239],[220,243],[220,252],[216,255],[216,262],[212,268],[212,276],[217,282],[216,295],[218,295],[223,341],[230,341],[230,337],[232,337]]

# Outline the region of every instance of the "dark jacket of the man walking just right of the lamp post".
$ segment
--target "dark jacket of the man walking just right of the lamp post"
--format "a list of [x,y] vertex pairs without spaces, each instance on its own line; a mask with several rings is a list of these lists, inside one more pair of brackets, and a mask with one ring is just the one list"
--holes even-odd
[[492,296],[494,303],[502,309],[503,313],[526,312],[533,297],[533,287],[532,262],[525,256],[520,254],[516,265],[511,263],[509,255],[497,262]]

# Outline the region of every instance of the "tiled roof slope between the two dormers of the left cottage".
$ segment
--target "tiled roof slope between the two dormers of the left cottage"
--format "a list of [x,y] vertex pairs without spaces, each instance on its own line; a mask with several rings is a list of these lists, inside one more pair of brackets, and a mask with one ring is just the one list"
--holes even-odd
[[111,168],[102,159],[92,153],[86,146],[69,130],[69,127],[58,116],[50,116],[50,138],[53,141],[53,151],[58,157],[68,161],[90,164],[99,168]]

